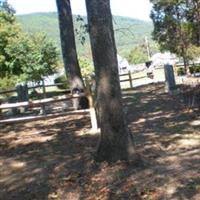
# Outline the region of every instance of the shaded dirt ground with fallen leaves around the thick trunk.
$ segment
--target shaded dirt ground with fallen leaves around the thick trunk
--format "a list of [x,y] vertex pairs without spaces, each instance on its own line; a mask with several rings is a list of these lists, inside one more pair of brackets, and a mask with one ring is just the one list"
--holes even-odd
[[200,117],[163,84],[123,92],[140,163],[95,163],[90,119],[0,126],[2,200],[199,200]]

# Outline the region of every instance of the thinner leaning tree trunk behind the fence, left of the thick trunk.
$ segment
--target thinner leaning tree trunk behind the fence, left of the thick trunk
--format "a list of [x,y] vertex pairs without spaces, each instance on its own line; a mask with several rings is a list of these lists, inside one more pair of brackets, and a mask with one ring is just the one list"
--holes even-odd
[[56,3],[65,71],[70,78],[71,89],[82,90],[84,84],[77,58],[70,0],[56,0]]

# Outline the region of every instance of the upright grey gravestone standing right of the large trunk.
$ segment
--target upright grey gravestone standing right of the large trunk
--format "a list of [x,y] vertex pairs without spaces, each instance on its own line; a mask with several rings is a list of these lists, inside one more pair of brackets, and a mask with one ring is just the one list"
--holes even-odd
[[176,82],[174,78],[173,66],[166,64],[164,65],[165,70],[165,88],[169,94],[174,94],[176,92]]

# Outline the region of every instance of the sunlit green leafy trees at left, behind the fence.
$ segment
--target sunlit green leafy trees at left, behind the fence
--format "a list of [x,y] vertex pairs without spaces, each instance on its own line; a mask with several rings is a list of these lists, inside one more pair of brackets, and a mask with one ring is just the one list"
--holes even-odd
[[58,51],[44,34],[22,32],[13,14],[0,11],[1,78],[39,81],[55,72],[57,61]]

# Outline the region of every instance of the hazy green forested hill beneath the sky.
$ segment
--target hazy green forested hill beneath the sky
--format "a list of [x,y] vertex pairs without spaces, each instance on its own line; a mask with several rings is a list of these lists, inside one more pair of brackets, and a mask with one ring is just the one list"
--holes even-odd
[[[80,22],[74,16],[75,29],[80,29]],[[86,21],[86,17],[83,17]],[[27,15],[18,15],[17,20],[22,24],[22,28],[28,32],[44,32],[60,47],[57,13],[33,13]],[[114,29],[117,48],[120,54],[129,52],[137,44],[143,44],[144,38],[151,38],[153,25],[151,22],[141,21],[127,17],[114,16]],[[88,37],[85,45],[77,40],[77,49],[80,54],[88,52]]]

